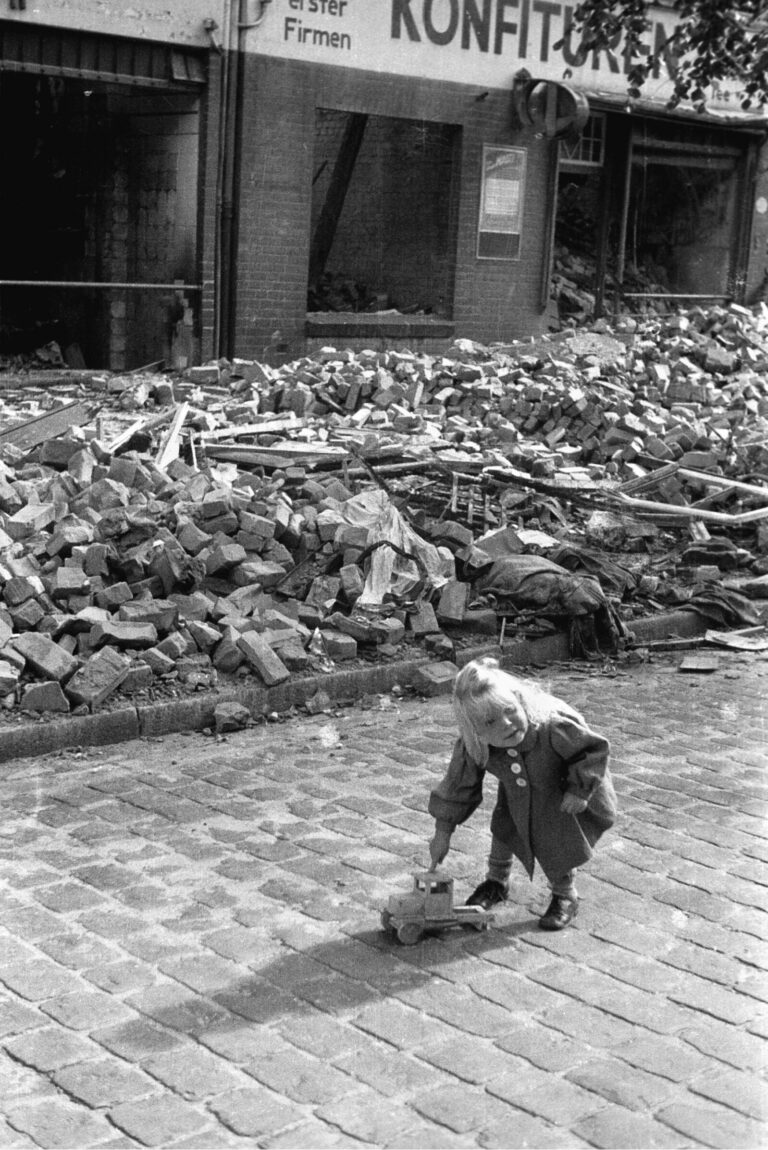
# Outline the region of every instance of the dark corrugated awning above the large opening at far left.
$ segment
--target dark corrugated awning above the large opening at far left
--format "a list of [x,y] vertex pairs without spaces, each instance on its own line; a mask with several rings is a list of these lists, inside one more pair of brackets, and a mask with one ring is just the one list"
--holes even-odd
[[205,53],[151,40],[0,23],[0,71],[151,87],[199,87]]

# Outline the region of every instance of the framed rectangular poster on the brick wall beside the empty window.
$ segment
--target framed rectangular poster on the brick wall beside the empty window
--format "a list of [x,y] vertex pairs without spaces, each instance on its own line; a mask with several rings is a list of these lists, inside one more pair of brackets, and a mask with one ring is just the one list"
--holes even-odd
[[516,260],[525,190],[524,147],[483,147],[481,209],[477,225],[479,260]]

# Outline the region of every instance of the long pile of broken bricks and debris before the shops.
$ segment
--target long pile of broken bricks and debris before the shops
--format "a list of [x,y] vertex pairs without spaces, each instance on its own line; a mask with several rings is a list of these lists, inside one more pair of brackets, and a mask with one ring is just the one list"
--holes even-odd
[[446,355],[325,348],[94,377],[98,414],[32,448],[28,390],[3,405],[15,439],[0,428],[0,704],[69,712],[232,674],[272,687],[409,642],[450,657],[453,626],[497,629],[451,574],[487,522],[422,523],[447,582],[407,611],[356,611],[376,540],[344,516],[373,488],[355,455],[596,492],[658,474],[658,497],[684,503],[676,466],[765,481],[767,368],[768,309],[732,306]]

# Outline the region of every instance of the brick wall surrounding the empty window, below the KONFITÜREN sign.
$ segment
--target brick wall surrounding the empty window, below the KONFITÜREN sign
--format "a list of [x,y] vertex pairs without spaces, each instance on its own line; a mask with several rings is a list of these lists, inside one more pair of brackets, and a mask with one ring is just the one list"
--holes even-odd
[[[251,56],[239,187],[238,355],[284,359],[305,351],[316,108],[454,125],[460,133],[452,308],[456,336],[504,340],[542,329],[552,145],[513,129],[508,92],[483,94],[460,84]],[[519,260],[477,260],[475,254],[483,144],[528,148]]]

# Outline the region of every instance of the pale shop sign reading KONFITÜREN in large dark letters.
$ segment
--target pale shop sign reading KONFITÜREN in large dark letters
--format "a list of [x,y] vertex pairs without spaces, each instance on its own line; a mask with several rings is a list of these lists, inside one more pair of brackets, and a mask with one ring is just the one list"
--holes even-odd
[[[574,8],[575,0],[270,0],[247,49],[500,89],[525,67],[542,80],[625,94],[631,61],[621,41],[585,54],[573,29]],[[647,43],[658,49],[674,28],[674,13],[653,8],[652,24]],[[671,94],[667,67],[643,94]]]

